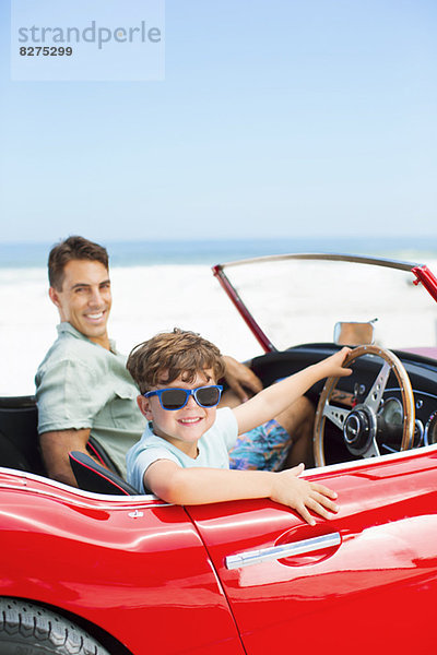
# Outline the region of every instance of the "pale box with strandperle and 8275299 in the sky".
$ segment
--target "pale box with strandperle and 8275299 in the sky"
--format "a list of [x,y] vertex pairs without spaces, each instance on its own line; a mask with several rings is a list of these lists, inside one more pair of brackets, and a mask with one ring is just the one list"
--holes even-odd
[[14,81],[160,81],[164,0],[11,0]]

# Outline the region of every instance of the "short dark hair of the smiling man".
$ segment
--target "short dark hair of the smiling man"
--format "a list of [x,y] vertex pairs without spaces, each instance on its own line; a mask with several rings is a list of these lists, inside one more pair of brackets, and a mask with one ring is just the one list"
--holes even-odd
[[101,262],[106,270],[109,270],[106,248],[83,237],[69,237],[54,246],[48,255],[48,279],[50,286],[57,291],[62,290],[63,269],[71,260]]

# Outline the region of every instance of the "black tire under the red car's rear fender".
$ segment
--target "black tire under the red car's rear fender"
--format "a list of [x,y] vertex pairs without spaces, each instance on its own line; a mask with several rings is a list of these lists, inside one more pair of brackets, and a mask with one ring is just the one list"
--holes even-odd
[[0,598],[1,655],[109,655],[82,628],[31,603]]

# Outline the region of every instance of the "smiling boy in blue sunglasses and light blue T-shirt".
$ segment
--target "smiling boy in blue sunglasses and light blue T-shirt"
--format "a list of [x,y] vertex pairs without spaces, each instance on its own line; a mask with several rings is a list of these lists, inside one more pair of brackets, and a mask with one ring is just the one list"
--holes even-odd
[[175,329],[140,344],[127,367],[139,385],[138,405],[151,421],[127,456],[128,480],[176,504],[271,498],[295,509],[310,525],[309,510],[329,517],[336,493],[288,471],[229,471],[227,451],[237,436],[283,412],[315,382],[351,374],[343,348],[264,389],[246,403],[217,409],[224,364],[220,350],[192,332]]

